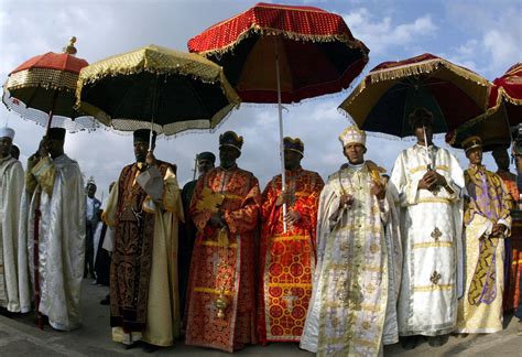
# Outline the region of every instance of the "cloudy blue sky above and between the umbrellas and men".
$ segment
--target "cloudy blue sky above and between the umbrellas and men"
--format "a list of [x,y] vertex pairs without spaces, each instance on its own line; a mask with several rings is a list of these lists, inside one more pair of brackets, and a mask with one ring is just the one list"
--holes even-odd
[[[186,51],[188,39],[254,3],[237,0],[0,0],[0,79],[3,83],[10,71],[34,55],[61,52],[72,35],[78,39],[78,56],[90,63],[151,43]],[[383,61],[431,52],[492,80],[522,61],[522,1],[280,3],[315,6],[341,14],[352,34],[370,48],[370,63],[365,73]],[[357,78],[352,86],[359,80]],[[345,162],[337,136],[350,121],[338,112],[337,106],[350,90],[287,106],[284,112],[285,134],[300,137],[305,142],[303,165],[319,172],[324,178]],[[219,133],[236,130],[244,137],[239,165],[252,171],[264,186],[279,170],[276,116],[274,106],[243,105],[215,133],[160,140],[156,155],[175,162],[180,183],[184,183],[192,177],[194,155],[206,150],[217,152]],[[14,141],[25,161],[34,152],[44,129],[21,120],[1,106],[0,125],[4,123],[17,130]],[[372,137],[368,140],[367,158],[391,170],[400,150],[411,144],[409,140]],[[100,191],[107,191],[121,167],[133,161],[131,137],[104,130],[68,136],[66,152],[79,162],[87,177],[95,177]],[[465,166],[464,155],[453,152]],[[485,161],[489,169],[496,169],[489,154]]]

